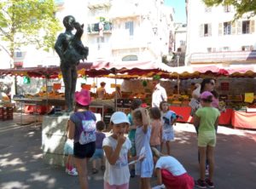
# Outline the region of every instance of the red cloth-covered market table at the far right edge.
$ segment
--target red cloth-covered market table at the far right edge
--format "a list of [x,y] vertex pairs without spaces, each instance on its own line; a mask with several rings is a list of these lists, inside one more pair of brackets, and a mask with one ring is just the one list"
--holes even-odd
[[256,112],[232,112],[232,126],[234,128],[256,129]]

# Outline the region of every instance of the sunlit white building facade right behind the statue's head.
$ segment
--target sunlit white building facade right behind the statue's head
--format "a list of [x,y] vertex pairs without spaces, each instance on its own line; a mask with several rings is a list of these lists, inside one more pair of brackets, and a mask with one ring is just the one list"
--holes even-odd
[[90,60],[160,60],[173,45],[172,14],[162,0],[89,0]]

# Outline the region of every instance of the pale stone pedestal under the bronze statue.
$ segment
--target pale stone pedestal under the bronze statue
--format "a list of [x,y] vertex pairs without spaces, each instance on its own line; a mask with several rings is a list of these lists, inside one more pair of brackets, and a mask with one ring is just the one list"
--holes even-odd
[[42,149],[44,163],[64,166],[63,148],[67,140],[69,116],[44,116],[42,123]]

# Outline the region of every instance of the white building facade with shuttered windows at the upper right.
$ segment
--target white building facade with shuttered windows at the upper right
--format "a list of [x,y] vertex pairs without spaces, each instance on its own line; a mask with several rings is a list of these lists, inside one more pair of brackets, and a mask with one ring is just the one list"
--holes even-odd
[[234,21],[231,5],[207,7],[187,0],[186,64],[250,64],[256,62],[255,16]]

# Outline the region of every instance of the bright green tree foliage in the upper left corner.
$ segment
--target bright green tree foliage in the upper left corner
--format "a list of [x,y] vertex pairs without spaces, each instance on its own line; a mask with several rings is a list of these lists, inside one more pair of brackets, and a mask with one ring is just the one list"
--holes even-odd
[[54,0],[0,1],[0,38],[8,43],[10,57],[15,49],[28,44],[44,50],[54,46],[56,32],[61,29],[55,11]]

